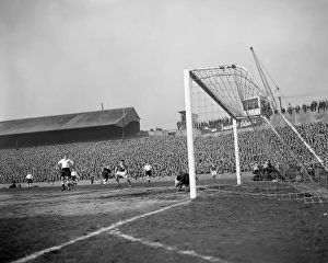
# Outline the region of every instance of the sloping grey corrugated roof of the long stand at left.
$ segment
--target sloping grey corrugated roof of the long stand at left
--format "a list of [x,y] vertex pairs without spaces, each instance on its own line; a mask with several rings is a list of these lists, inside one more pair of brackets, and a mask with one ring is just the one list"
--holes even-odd
[[[125,114],[133,107],[126,107]],[[0,122],[0,136],[116,125],[124,108]],[[136,113],[138,116],[138,114]],[[139,116],[138,116],[139,118]]]

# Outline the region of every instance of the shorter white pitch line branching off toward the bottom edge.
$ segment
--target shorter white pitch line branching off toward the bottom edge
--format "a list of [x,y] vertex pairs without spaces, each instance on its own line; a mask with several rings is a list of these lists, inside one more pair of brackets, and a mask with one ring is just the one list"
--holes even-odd
[[189,250],[189,251],[178,250],[177,248],[172,247],[172,245],[162,244],[162,243],[159,243],[159,242],[151,242],[151,241],[142,240],[142,239],[139,239],[139,238],[133,238],[131,236],[121,233],[118,230],[110,230],[107,233],[112,235],[112,236],[115,236],[115,237],[127,239],[127,240],[132,241],[132,242],[140,242],[142,244],[145,244],[148,247],[155,248],[155,249],[162,248],[162,249],[165,249],[165,250],[168,250],[168,251],[176,251],[179,254],[192,255],[195,258],[199,258],[201,260],[206,260],[206,261],[209,261],[209,262],[227,263],[227,261],[224,261],[224,260],[221,260],[221,259],[218,259],[218,258],[214,258],[214,256],[201,255],[201,254],[197,253],[194,250]]

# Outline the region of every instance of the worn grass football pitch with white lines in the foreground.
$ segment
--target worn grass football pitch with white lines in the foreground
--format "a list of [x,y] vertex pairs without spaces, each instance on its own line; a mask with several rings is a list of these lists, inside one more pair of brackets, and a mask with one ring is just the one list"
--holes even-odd
[[[204,185],[204,182],[202,182]],[[172,181],[0,190],[0,262],[327,262],[328,206]]]

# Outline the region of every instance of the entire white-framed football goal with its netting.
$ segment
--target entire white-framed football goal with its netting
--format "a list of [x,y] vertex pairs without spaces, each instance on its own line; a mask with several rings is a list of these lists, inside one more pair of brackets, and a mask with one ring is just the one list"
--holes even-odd
[[328,201],[327,160],[245,68],[185,70],[185,99],[191,198],[197,175],[211,194]]

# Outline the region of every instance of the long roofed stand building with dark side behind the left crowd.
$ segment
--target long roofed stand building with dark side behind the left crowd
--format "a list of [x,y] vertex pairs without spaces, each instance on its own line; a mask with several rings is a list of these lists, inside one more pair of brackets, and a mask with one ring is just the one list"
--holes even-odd
[[0,122],[0,148],[92,141],[136,136],[133,107]]

